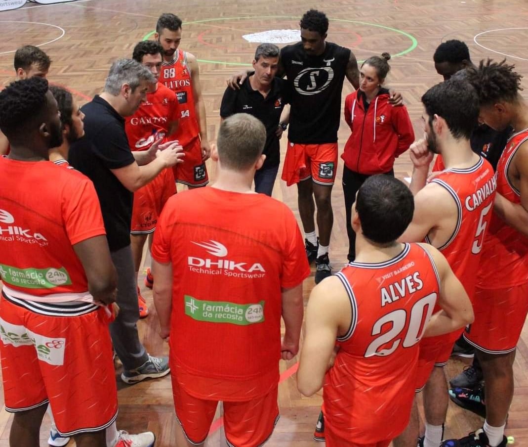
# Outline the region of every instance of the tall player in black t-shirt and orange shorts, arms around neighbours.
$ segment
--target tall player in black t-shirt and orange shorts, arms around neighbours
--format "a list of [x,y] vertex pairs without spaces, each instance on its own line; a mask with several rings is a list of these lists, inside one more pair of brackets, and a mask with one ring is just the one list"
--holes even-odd
[[[337,129],[345,76],[354,88],[359,87],[354,54],[347,48],[326,42],[327,31],[328,18],[324,13],[306,12],[300,21],[301,42],[282,48],[277,72],[279,77],[287,76],[293,90],[282,179],[288,185],[297,183],[306,255],[310,263],[316,261],[316,283],[332,274],[328,259],[334,221],[331,193],[337,167]],[[241,83],[245,77],[246,73],[239,73],[228,84],[240,88],[237,80]]]

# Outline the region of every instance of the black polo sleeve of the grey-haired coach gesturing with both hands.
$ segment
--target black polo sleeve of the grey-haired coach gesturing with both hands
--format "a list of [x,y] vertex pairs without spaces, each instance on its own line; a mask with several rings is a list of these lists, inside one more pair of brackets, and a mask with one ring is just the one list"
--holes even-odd
[[136,161],[119,122],[106,124],[94,140],[93,152],[108,169],[119,169]]

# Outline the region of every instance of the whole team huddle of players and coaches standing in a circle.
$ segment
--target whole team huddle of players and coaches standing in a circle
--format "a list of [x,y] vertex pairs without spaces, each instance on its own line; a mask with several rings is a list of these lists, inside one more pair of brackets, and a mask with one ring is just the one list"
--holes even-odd
[[[257,447],[279,419],[279,360],[299,355],[300,393],[323,388],[314,439],[328,447],[506,446],[528,313],[521,75],[506,61],[475,66],[463,42],[442,43],[434,60],[444,81],[421,97],[424,137],[415,141],[402,96],[384,87],[390,54],[358,66],[350,49],[326,41],[324,13],[309,10],[299,25],[300,42],[260,44],[253,69],[228,80],[215,145],[199,66],[179,48],[174,14],[112,64],[82,107],[48,84],[48,55],[16,51],[17,80],[0,92],[10,445],[39,445],[47,411],[50,445],[72,437],[78,447],[153,447],[154,433],[117,429],[117,355],[127,384],[171,375],[174,445],[202,445],[222,402],[227,445]],[[349,263],[332,272],[345,77],[355,88],[341,155]],[[281,179],[297,185],[303,231],[270,197],[286,130]],[[394,178],[406,152],[408,185]],[[216,180],[205,187],[209,158]],[[176,183],[187,190],[176,193]],[[145,243],[168,357],[139,340],[137,321],[149,314],[138,286]],[[448,389],[451,355],[474,361]],[[483,426],[445,440],[449,399]]]

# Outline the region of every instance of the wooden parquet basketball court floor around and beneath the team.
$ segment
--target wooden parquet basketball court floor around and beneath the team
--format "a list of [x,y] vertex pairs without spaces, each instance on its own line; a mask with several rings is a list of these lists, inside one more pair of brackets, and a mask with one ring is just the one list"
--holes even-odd
[[[136,42],[153,31],[157,17],[173,12],[184,20],[181,48],[200,60],[202,90],[208,114],[208,133],[214,141],[220,123],[219,108],[225,79],[249,64],[257,43],[249,43],[243,35],[268,30],[297,30],[300,16],[314,7],[330,18],[328,41],[351,48],[357,59],[389,51],[391,73],[389,85],[401,91],[417,135],[420,125],[421,95],[441,81],[436,74],[432,54],[437,45],[448,39],[464,40],[473,61],[482,58],[502,59],[516,64],[518,71],[528,74],[528,3],[523,0],[326,0],[313,2],[290,0],[80,0],[73,3],[36,6],[27,3],[20,10],[0,13],[0,83],[6,85],[14,77],[13,53],[23,44],[40,45],[53,60],[49,79],[68,86],[81,103],[101,91],[110,63],[130,57]],[[526,80],[524,86],[528,86]],[[345,81],[343,97],[352,91]],[[340,148],[348,137],[342,122]],[[282,139],[284,156],[285,138]],[[215,166],[209,162],[214,181]],[[399,178],[410,174],[410,162],[403,154],[395,165]],[[333,192],[334,230],[331,260],[335,268],[346,261],[347,238],[338,171]],[[277,180],[274,196],[287,203],[298,217],[296,189],[286,188]],[[142,275],[143,276],[143,275]],[[313,276],[305,281],[305,299],[313,287]],[[142,288],[149,304],[152,294]],[[142,339],[150,353],[167,353],[167,345],[157,335],[158,323],[154,307],[150,316],[138,323]],[[515,444],[528,446],[528,329],[518,344],[515,360],[515,397],[506,434],[515,437]],[[280,384],[281,420],[268,445],[315,446],[312,433],[321,403],[320,395],[300,396],[295,386],[296,361],[282,362],[284,373]],[[451,360],[448,375],[463,368]],[[120,368],[116,370],[116,378]],[[174,445],[176,424],[168,377],[145,381],[134,386],[119,384],[118,427],[131,433],[152,430],[158,447]],[[8,445],[11,417],[0,412],[0,447]],[[461,436],[482,425],[482,420],[450,404],[446,435]],[[49,422],[42,428],[41,445],[46,445]],[[221,420],[213,424],[207,445],[222,445]],[[73,442],[70,445],[74,445]],[[414,446],[412,446],[414,447]]]

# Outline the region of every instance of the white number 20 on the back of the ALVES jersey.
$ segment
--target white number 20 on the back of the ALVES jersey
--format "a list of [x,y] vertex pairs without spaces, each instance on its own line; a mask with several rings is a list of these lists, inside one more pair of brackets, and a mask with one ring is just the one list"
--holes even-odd
[[[437,294],[430,293],[418,300],[412,306],[409,315],[409,328],[406,334],[402,334],[407,323],[407,311],[397,309],[386,315],[383,315],[376,321],[372,327],[372,336],[381,334],[385,324],[390,325],[390,329],[378,338],[374,339],[366,348],[365,357],[372,356],[389,356],[400,346],[403,339],[403,347],[410,348],[418,343],[426,329],[427,322],[431,318],[433,308],[435,307]],[[425,313],[425,315],[424,315]],[[392,341],[390,347],[380,349],[384,344]]]

